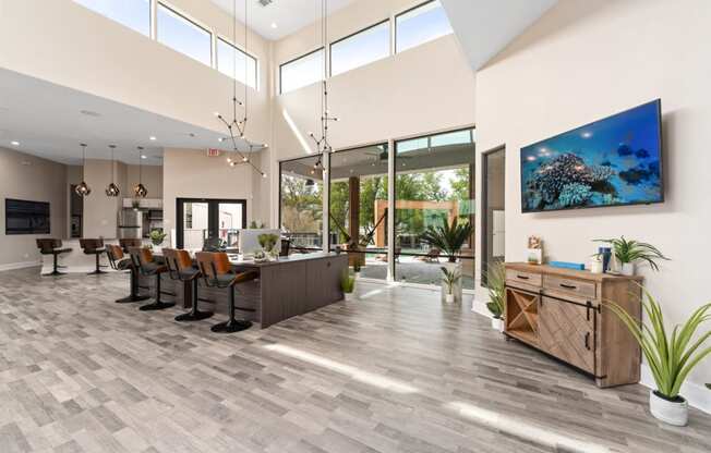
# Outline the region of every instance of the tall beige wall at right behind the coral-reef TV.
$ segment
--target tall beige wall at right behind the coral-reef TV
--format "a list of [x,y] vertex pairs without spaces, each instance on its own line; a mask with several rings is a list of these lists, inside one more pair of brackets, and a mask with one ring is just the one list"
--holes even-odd
[[[659,273],[641,271],[670,326],[709,301],[711,60],[700,42],[711,41],[710,23],[706,0],[562,1],[478,72],[478,150],[507,147],[508,260],[525,258],[530,234],[543,237],[550,258],[566,261],[587,261],[595,237],[624,234],[672,258]],[[663,205],[521,213],[521,146],[655,98]],[[711,360],[691,380],[711,381]]]

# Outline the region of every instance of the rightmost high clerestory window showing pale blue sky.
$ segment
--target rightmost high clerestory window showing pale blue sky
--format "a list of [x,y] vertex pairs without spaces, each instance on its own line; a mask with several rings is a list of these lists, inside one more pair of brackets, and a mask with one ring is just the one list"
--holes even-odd
[[439,0],[429,1],[395,17],[395,51],[401,52],[453,33]]

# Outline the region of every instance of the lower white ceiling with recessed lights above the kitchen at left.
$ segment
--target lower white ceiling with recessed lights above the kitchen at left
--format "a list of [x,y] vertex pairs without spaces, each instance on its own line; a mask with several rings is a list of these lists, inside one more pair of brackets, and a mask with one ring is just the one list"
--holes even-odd
[[162,148],[224,148],[220,137],[214,131],[0,69],[0,147],[79,164],[80,143],[88,145],[87,159],[110,159],[108,146],[117,145],[116,158],[125,163],[137,163],[136,146],[143,146],[148,157],[143,163],[160,164]]

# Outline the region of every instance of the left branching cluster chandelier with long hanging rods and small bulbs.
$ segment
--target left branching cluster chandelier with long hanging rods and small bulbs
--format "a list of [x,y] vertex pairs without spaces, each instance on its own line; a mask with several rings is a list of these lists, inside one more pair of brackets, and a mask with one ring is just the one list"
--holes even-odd
[[[244,2],[244,50],[246,51],[246,39],[248,39],[248,10],[249,10],[249,4],[250,1]],[[229,134],[229,137],[227,139],[231,140],[232,144],[232,150],[234,154],[238,156],[238,158],[227,158],[227,162],[229,163],[230,167],[237,167],[239,164],[249,164],[262,175],[262,177],[266,177],[266,173],[262,171],[257,166],[255,166],[251,161],[251,156],[252,152],[255,150],[261,150],[267,147],[266,144],[253,144],[250,143],[245,138],[245,133],[246,133],[246,121],[248,121],[248,97],[249,97],[249,90],[248,90],[248,84],[246,81],[249,79],[249,64],[246,64],[246,57],[245,57],[245,62],[244,62],[244,102],[239,101],[237,99],[237,58],[238,58],[238,50],[237,50],[237,0],[232,2],[232,17],[233,17],[233,23],[232,23],[232,44],[234,45],[232,47],[232,121],[227,121],[225,117],[222,117],[219,112],[215,112],[215,117],[217,117],[218,120],[225,124],[227,127],[227,132]],[[244,115],[238,120],[237,119],[237,107],[238,105],[242,108],[244,108]],[[242,139],[246,143],[246,154],[243,154],[240,151],[238,147],[237,140]]]

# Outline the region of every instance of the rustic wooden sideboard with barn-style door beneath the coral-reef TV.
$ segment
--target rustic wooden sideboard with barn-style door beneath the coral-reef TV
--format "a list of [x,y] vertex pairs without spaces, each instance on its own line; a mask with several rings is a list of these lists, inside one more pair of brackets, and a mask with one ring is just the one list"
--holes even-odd
[[504,332],[594,377],[598,387],[639,381],[641,351],[617,303],[641,316],[640,277],[506,264]]

